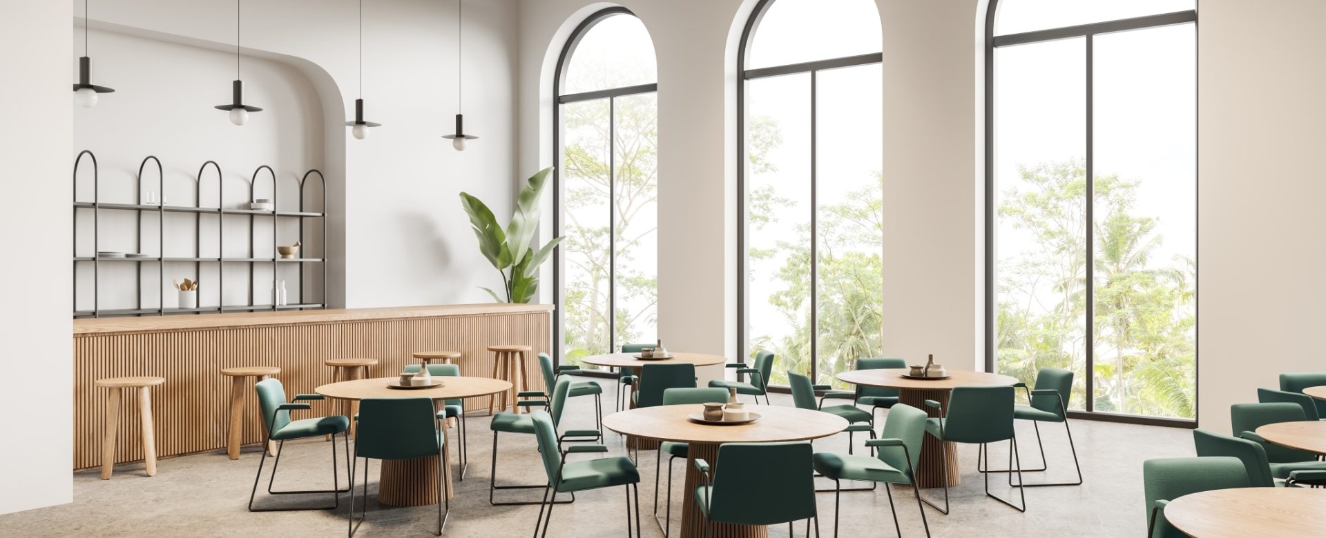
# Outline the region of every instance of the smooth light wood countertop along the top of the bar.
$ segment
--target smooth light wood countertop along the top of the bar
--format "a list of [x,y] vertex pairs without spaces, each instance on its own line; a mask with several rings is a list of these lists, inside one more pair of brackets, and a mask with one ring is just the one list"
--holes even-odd
[[74,337],[106,334],[171,333],[206,329],[239,329],[281,325],[343,323],[394,318],[436,318],[450,315],[509,315],[552,311],[553,305],[440,305],[385,309],[333,309],[290,311],[248,311],[232,314],[145,315],[137,318],[74,319]]

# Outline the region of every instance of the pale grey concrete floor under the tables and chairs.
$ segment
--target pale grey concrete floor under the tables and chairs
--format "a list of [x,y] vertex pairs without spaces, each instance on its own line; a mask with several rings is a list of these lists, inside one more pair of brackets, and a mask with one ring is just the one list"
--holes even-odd
[[[606,384],[602,383],[601,384]],[[605,395],[605,409],[611,412],[611,388]],[[788,395],[774,395],[773,403],[790,405]],[[577,398],[564,419],[566,428],[593,425],[593,403]],[[469,472],[456,482],[456,497],[451,501],[448,537],[521,537],[534,529],[538,506],[491,506],[488,504],[488,469],[492,433],[487,416],[468,419]],[[961,447],[963,484],[949,490],[952,514],[943,515],[927,508],[926,518],[935,537],[1136,537],[1146,533],[1142,501],[1142,461],[1154,457],[1192,456],[1192,436],[1187,429],[1159,428],[1101,421],[1073,421],[1078,455],[1082,461],[1085,484],[1063,488],[1026,489],[1028,511],[1018,513],[998,501],[985,498],[983,477],[976,472],[976,447]],[[1049,453],[1049,480],[1073,478],[1073,460],[1067,451],[1063,428],[1042,428]],[[1022,440],[1024,466],[1036,466],[1034,436],[1030,424],[1018,424]],[[621,436],[607,433],[610,455],[625,455]],[[858,439],[858,443],[861,440]],[[338,445],[342,465],[343,444]],[[817,451],[846,452],[847,436],[815,441]],[[861,448],[858,447],[858,451]],[[281,457],[281,476],[277,489],[325,489],[330,484],[330,448],[320,440],[286,443]],[[1006,447],[992,451],[991,461],[1006,461]],[[0,515],[0,537],[334,537],[346,533],[349,497],[342,496],[335,510],[249,513],[249,488],[257,469],[259,448],[248,447],[239,461],[231,461],[224,451],[160,460],[155,477],[143,474],[142,464],[115,468],[109,481],[99,480],[98,470],[74,473],[74,502],[17,514]],[[590,456],[573,456],[590,457]],[[640,508],[643,534],[658,537],[663,533],[650,518],[654,498],[654,453],[640,452],[639,469],[643,477]],[[455,461],[455,453],[452,453]],[[664,458],[664,472],[667,460]],[[361,460],[362,465],[362,460]],[[377,472],[374,462],[369,484],[369,518],[357,535],[431,535],[436,525],[436,508],[383,508],[378,506]],[[264,482],[271,472],[271,460],[263,473]],[[362,473],[362,466],[359,468]],[[1028,481],[1041,480],[1046,473],[1029,473]],[[362,474],[361,474],[362,476]],[[342,481],[343,481],[342,474]],[[499,484],[546,482],[536,452],[533,436],[504,435],[501,437]],[[1002,476],[991,476],[991,489],[1000,496],[1017,496],[1016,489],[1000,486]],[[674,478],[672,530],[680,525],[682,470]],[[343,484],[343,482],[342,482]],[[819,480],[821,486],[831,481]],[[663,485],[667,485],[664,477]],[[358,492],[359,488],[355,488]],[[505,490],[511,496],[538,500],[541,490]],[[941,490],[926,492],[941,496]],[[302,498],[285,498],[302,497]],[[903,534],[924,535],[920,514],[911,489],[895,489],[895,502]],[[941,497],[940,497],[941,498]],[[330,496],[264,497],[260,506],[316,505],[329,502]],[[833,493],[818,494],[822,535],[833,535]],[[553,514],[549,535],[609,537],[625,534],[625,497],[621,489],[585,492],[570,505],[560,505]],[[662,496],[660,496],[662,505]],[[662,506],[660,506],[662,509]],[[892,537],[894,523],[888,511],[888,496],[883,489],[842,494],[839,533],[847,537]],[[662,510],[660,510],[662,513]],[[805,526],[797,527],[800,535]],[[786,526],[777,526],[770,535],[785,535]]]

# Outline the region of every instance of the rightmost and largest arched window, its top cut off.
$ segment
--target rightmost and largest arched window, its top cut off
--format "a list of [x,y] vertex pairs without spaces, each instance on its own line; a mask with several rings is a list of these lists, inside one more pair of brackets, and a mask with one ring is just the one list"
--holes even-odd
[[987,367],[1195,417],[1195,0],[991,0]]

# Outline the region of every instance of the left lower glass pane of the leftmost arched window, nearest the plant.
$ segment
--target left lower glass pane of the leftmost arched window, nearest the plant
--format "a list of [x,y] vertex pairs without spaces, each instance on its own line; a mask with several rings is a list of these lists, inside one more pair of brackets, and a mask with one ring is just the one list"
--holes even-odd
[[609,101],[561,106],[564,360],[611,352],[609,315]]

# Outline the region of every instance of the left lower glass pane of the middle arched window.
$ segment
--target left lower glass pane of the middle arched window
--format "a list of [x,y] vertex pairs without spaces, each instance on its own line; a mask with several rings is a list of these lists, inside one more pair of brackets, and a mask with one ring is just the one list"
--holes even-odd
[[747,82],[749,354],[772,350],[772,384],[810,372],[810,74]]

